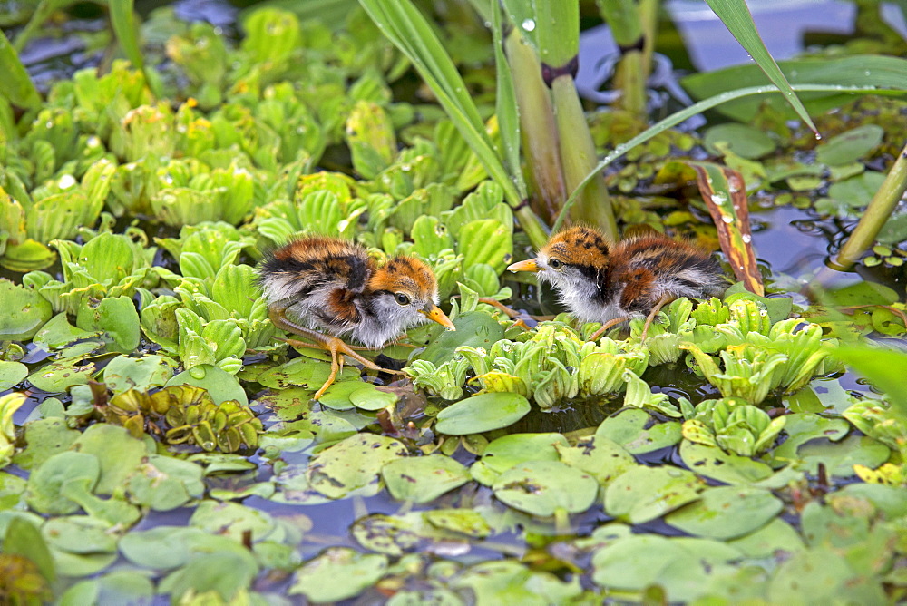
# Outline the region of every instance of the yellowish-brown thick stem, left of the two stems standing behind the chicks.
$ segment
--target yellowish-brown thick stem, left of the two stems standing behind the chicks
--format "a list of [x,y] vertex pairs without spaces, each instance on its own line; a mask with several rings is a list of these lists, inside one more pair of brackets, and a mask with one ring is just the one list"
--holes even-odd
[[522,149],[540,202],[535,205],[536,212],[551,221],[567,198],[551,96],[541,79],[539,57],[518,29],[507,35],[504,48],[520,108]]

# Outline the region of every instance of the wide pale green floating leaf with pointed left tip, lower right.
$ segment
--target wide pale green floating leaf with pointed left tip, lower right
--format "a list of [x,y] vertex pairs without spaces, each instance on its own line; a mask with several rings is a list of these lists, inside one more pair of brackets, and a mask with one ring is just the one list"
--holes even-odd
[[767,490],[719,486],[704,491],[696,503],[668,513],[665,522],[695,536],[727,540],[756,531],[783,506]]

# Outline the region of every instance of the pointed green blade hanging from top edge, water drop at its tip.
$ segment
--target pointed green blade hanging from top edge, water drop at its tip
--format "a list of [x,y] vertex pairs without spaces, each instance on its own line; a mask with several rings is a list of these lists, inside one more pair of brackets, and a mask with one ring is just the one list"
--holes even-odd
[[768,79],[784,93],[787,103],[791,104],[800,119],[818,134],[813,119],[809,117],[803,103],[796,96],[790,83],[787,82],[785,74],[775,63],[774,57],[769,54],[766,43],[759,37],[756,24],[753,23],[753,15],[746,6],[746,0],[706,0],[706,2],[725,24],[727,31],[734,35],[737,42],[746,49],[746,52],[753,57],[753,61],[766,73]]

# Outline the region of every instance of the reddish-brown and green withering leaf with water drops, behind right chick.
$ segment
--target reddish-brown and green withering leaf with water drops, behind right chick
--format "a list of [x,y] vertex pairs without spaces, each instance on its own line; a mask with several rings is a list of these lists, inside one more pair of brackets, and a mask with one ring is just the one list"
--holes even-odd
[[721,249],[737,279],[756,295],[766,294],[762,274],[756,267],[753,234],[749,227],[746,185],[739,172],[710,162],[688,162],[696,171],[697,184],[709,214],[715,221]]

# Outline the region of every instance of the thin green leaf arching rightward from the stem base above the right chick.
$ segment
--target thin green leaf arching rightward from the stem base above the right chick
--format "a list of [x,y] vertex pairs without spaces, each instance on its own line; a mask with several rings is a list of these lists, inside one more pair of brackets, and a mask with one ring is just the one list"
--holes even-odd
[[[866,88],[859,86],[829,86],[827,84],[800,84],[794,87],[795,91],[799,92],[835,92],[835,93],[863,93],[863,94],[877,94],[885,92],[883,89],[878,88]],[[692,118],[697,113],[705,112],[710,110],[713,107],[717,107],[722,103],[727,103],[735,99],[740,99],[741,97],[747,97],[754,94],[771,94],[771,93],[780,93],[775,86],[751,86],[748,88],[741,88],[736,91],[728,91],[727,93],[721,93],[699,103],[693,103],[688,108],[672,113],[667,118],[660,122],[656,122],[652,126],[649,126],[643,132],[640,132],[637,136],[630,139],[628,142],[620,143],[615,147],[604,160],[600,161],[598,166],[595,167],[593,171],[590,171],[586,178],[580,181],[580,184],[577,185],[576,189],[571,192],[570,198],[564,202],[563,208],[561,209],[561,214],[558,215],[558,220],[554,222],[554,226],[551,228],[552,232],[555,232],[561,229],[564,219],[567,217],[567,213],[570,211],[571,206],[576,200],[580,198],[580,192],[585,188],[590,181],[595,179],[601,174],[601,171],[604,171],[608,168],[611,162],[617,160],[623,154],[629,152],[637,145],[641,145],[644,142],[649,141],[652,137],[656,136],[660,132],[665,132],[672,126],[677,126],[680,122]]]

